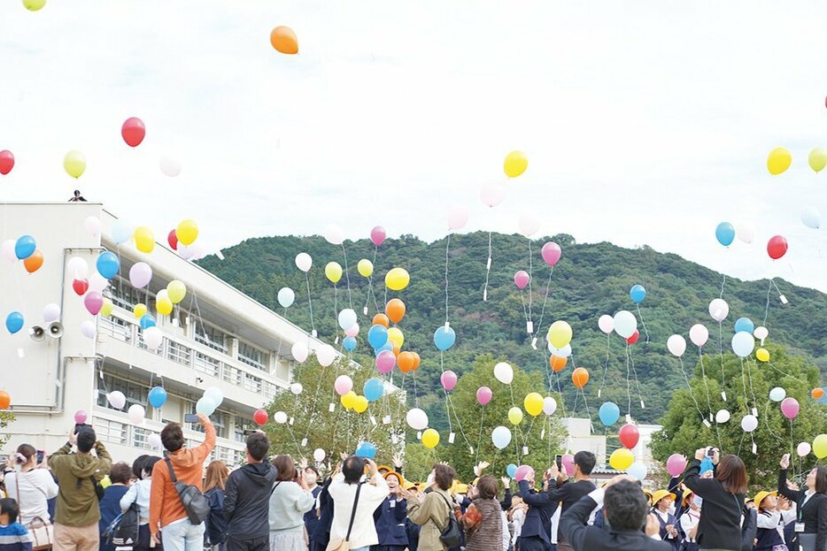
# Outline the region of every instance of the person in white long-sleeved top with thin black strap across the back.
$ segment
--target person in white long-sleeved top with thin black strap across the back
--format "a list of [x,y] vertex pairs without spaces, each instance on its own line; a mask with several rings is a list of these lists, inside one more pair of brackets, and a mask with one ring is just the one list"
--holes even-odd
[[352,551],[367,551],[367,547],[379,543],[374,511],[388,497],[388,483],[372,460],[367,460],[367,470],[367,482],[362,484],[365,460],[351,455],[344,460],[342,473],[330,483],[328,493],[333,498],[333,523],[330,524],[328,549],[338,548],[345,540]]

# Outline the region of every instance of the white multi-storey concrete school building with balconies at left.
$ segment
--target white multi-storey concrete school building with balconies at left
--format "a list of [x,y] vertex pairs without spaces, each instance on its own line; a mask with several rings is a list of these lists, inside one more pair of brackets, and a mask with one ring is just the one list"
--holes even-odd
[[[95,203],[9,203],[0,205],[3,239],[31,234],[44,264],[29,274],[23,263],[0,259],[0,288],[4,294],[2,317],[19,311],[26,319],[23,330],[9,334],[3,328],[0,358],[4,374],[0,388],[12,395],[17,420],[7,427],[12,434],[4,453],[28,442],[53,451],[66,442],[74,425],[74,413],[84,410],[116,460],[131,462],[137,455],[160,453],[150,450],[147,438],[169,421],[183,424],[185,414],[195,412],[195,402],[205,388],[217,386],[224,402],[213,414],[218,444],[213,458],[232,465],[243,462],[243,432],[252,425],[255,409],[266,405],[274,394],[290,385],[290,348],[305,341],[308,348],[321,341],[297,325],[243,295],[236,288],[183,260],[166,243],[151,254],[134,245],[117,246],[112,241],[115,218]],[[88,217],[100,218],[102,235],[93,236],[84,227]],[[166,235],[156,235],[166,241]],[[119,275],[104,291],[115,304],[112,316],[93,317],[83,298],[73,291],[74,274],[67,263],[80,256],[96,272],[97,256],[110,250],[120,256]],[[129,268],[145,262],[152,268],[149,288],[135,289],[129,283]],[[170,316],[155,310],[155,295],[172,279],[180,279],[188,294]],[[29,328],[43,324],[43,307],[57,303],[64,333],[34,341]],[[133,306],[143,302],[158,320],[164,342],[157,351],[146,348]],[[97,323],[97,338],[81,334],[81,323]],[[48,333],[48,332],[47,332]],[[164,386],[166,404],[153,409],[147,403],[151,386]],[[119,390],[127,396],[124,410],[113,409],[106,394]],[[143,423],[129,422],[131,404],[146,407]],[[201,440],[197,426],[183,425],[191,440]]]

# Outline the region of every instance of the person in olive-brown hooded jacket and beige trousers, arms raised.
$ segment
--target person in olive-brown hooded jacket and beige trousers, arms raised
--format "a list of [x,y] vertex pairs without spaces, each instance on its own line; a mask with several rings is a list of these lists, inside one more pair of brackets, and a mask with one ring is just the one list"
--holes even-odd
[[[70,454],[77,446],[77,452]],[[92,448],[95,455],[92,455]],[[97,441],[95,430],[81,426],[69,432],[69,441],[49,456],[49,467],[58,478],[55,509],[55,551],[97,551],[100,520],[99,482],[112,467],[112,458]]]

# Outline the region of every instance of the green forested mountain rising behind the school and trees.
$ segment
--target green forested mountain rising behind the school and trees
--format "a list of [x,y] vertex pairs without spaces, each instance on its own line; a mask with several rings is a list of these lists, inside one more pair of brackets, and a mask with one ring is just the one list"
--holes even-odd
[[[546,241],[556,241],[562,248],[560,263],[553,269],[550,295],[541,312],[545,297],[549,268],[540,256]],[[411,274],[410,286],[395,293],[387,292],[387,298],[398,296],[406,302],[406,317],[399,324],[405,334],[403,349],[414,350],[422,358],[416,371],[416,392],[421,406],[429,410],[433,424],[444,424],[444,393],[439,383],[441,372],[440,353],[434,347],[433,335],[445,322],[445,260],[446,241],[425,242],[413,235],[389,239],[378,249],[375,261],[373,287],[378,305],[383,309],[386,290],[384,275],[392,267],[403,267]],[[545,333],[548,325],[557,319],[568,321],[574,330],[573,358],[565,370],[560,371],[560,387],[566,397],[564,407],[576,405],[576,413],[584,414],[583,398],[576,400],[572,385],[573,366],[584,367],[591,374],[585,386],[585,398],[592,417],[600,402],[617,402],[622,412],[627,407],[627,356],[626,344],[616,334],[609,339],[600,333],[598,318],[602,314],[614,314],[617,310],[630,310],[637,314],[630,300],[630,287],[643,285],[647,296],[640,304],[640,313],[649,334],[646,342],[644,326],[638,323],[640,340],[629,347],[630,368],[637,371],[640,394],[645,409],[640,408],[638,389],[632,377],[632,415],[638,421],[657,422],[667,408],[672,391],[685,386],[684,376],[676,357],[666,348],[672,333],[681,333],[688,339],[690,326],[707,325],[710,340],[707,354],[718,351],[719,330],[707,311],[709,302],[721,294],[723,275],[699,264],[688,262],[673,254],[662,254],[653,249],[622,249],[611,243],[576,244],[568,235],[556,235],[548,239],[530,241],[519,235],[494,233],[492,236],[492,264],[488,287],[488,301],[483,302],[483,287],[488,258],[488,233],[452,235],[448,249],[448,299],[447,318],[457,333],[453,348],[444,353],[444,369],[458,374],[470,369],[475,357],[491,354],[504,358],[525,370],[548,370]],[[367,345],[369,318],[362,309],[367,301],[367,279],[359,276],[356,265],[361,258],[374,259],[375,247],[368,241],[345,241],[347,252],[347,278],[343,276],[336,291],[336,307],[341,310],[352,307],[359,314],[359,348],[357,352],[371,355]],[[311,329],[307,305],[305,274],[300,272],[294,259],[299,252],[313,256],[310,271],[313,321],[319,336],[333,342],[342,332],[336,325],[334,286],[324,275],[328,262],[344,267],[342,247],[328,244],[319,236],[269,237],[243,241],[225,249],[224,260],[215,256],[201,261],[205,269],[214,272],[231,285],[284,313],[290,321]],[[532,274],[531,295],[529,288],[520,291],[514,285],[514,272],[525,270]],[[730,304],[730,315],[723,322],[723,348],[730,349],[733,324],[737,318],[747,317],[755,325],[769,328],[769,341],[783,344],[790,354],[804,356],[815,361],[821,371],[827,371],[827,304],[825,295],[813,289],[795,287],[776,279],[788,304],[783,305],[775,289],[769,293],[769,315],[764,321],[768,304],[769,280],[740,281],[727,278],[723,286],[723,298]],[[296,293],[296,302],[282,309],[276,295],[281,287],[290,287]],[[526,333],[526,314],[534,321],[538,338],[537,349],[531,347]],[[525,309],[524,308],[525,304]],[[375,303],[369,303],[369,315],[376,312]],[[604,365],[607,362],[607,381],[598,398]],[[684,356],[687,370],[692,370],[697,359],[696,348],[689,344]],[[365,361],[365,358],[359,358]],[[367,360],[369,361],[369,360]],[[634,371],[630,369],[633,375]],[[691,372],[689,373],[692,376]],[[715,377],[715,366],[708,372]],[[557,381],[553,380],[556,387]],[[413,386],[406,383],[406,390]],[[538,392],[544,389],[538,388]],[[410,393],[409,393],[410,397]],[[522,402],[522,396],[517,400]],[[443,402],[439,402],[442,404]]]

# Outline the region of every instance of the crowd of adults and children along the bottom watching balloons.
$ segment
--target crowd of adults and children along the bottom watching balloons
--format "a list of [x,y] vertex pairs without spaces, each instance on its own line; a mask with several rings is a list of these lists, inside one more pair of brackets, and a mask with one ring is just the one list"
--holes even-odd
[[[355,455],[324,480],[290,455],[269,457],[251,432],[246,463],[230,472],[213,461],[215,429],[186,448],[181,425],[161,432],[165,456],[112,463],[88,425],[48,458],[23,444],[7,464],[0,499],[0,551],[822,551],[827,548],[827,467],[803,488],[779,464],[773,491],[746,495],[736,455],[699,448],[681,477],[649,493],[627,475],[596,486],[596,463],[574,456],[569,477],[553,464],[512,490],[475,468],[460,484],[437,463],[425,483],[406,480],[402,462],[380,467]],[[105,488],[104,488],[105,486]],[[129,514],[131,513],[131,517]],[[124,534],[127,534],[124,536]]]

